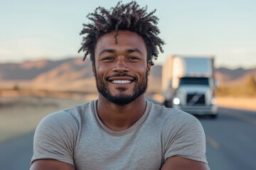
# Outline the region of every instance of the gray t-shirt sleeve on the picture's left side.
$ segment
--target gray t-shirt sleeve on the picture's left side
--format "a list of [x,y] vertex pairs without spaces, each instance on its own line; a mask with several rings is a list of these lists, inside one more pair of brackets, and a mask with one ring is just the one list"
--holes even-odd
[[60,111],[46,116],[36,128],[31,163],[37,159],[56,159],[74,165],[77,133],[78,126],[69,113]]

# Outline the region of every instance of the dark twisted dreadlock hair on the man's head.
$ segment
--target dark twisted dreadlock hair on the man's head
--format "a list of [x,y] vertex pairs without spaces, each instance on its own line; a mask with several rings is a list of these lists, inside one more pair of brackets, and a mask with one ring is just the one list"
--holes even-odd
[[98,38],[115,31],[116,35],[115,43],[117,44],[118,30],[129,30],[142,36],[147,48],[147,61],[151,65],[154,65],[152,59],[156,60],[159,54],[159,50],[163,53],[162,45],[165,44],[164,40],[161,40],[157,35],[160,33],[159,28],[156,27],[159,18],[153,16],[153,13],[146,13],[147,6],[145,8],[139,8],[139,4],[136,1],[131,1],[128,4],[121,4],[122,1],[117,3],[117,6],[107,10],[101,6],[95,9],[94,13],[89,13],[87,18],[92,23],[83,23],[80,35],[85,35],[82,38],[80,50],[85,52],[82,61],[85,61],[87,55],[90,55],[92,64],[95,65],[95,46]]

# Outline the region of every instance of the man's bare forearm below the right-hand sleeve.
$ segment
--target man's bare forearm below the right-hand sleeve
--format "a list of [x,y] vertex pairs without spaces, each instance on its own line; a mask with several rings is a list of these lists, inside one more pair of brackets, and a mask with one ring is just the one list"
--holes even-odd
[[193,161],[183,157],[169,157],[161,170],[210,170],[203,162]]

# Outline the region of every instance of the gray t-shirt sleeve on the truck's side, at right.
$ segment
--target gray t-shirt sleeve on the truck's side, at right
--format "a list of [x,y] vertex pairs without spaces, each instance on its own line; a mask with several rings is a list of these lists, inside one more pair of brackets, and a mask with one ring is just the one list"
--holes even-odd
[[206,137],[199,120],[188,113],[178,113],[166,125],[164,161],[173,156],[206,161]]

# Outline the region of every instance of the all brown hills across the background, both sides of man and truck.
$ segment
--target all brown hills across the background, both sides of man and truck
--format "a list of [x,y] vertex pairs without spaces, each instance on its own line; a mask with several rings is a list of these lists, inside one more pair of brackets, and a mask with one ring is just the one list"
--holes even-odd
[[[215,77],[220,84],[237,84],[248,75],[255,75],[255,69],[218,68]],[[48,89],[60,91],[96,91],[95,79],[92,77],[90,60],[82,62],[80,58],[51,61],[0,64],[0,89]],[[161,65],[151,67],[149,90],[161,90]]]

